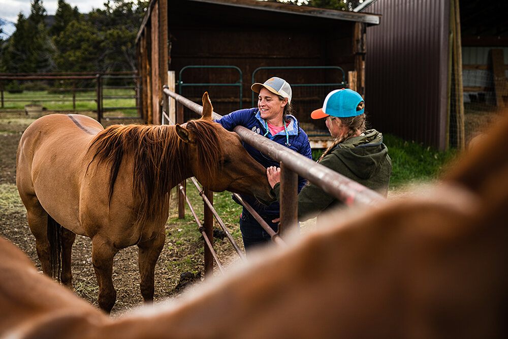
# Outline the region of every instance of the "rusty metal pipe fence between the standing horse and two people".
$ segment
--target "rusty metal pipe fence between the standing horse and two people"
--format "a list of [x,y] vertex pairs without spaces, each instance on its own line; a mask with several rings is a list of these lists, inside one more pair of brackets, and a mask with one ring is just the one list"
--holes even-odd
[[[185,97],[176,94],[174,91],[171,91],[168,86],[163,87],[163,114],[162,114],[162,122],[170,121],[167,112],[169,112],[169,97],[173,98],[176,102],[176,123],[182,124],[185,121],[182,121],[183,114],[178,114],[178,112],[182,112],[183,106],[193,110],[198,114],[202,114],[203,107],[199,104],[196,104],[193,101],[188,100]],[[221,115],[212,112],[212,118],[218,119],[222,117]],[[253,210],[248,204],[243,202],[239,195],[236,195],[239,198],[239,201],[244,204],[244,206],[251,211],[253,217],[260,222],[262,227],[270,234],[272,241],[278,245],[284,246],[284,242],[281,239],[280,235],[284,234],[290,228],[295,227],[297,220],[297,175],[300,175],[316,186],[320,187],[323,191],[328,194],[334,196],[335,198],[342,201],[347,206],[368,206],[373,205],[377,202],[384,201],[385,198],[379,195],[377,192],[374,192],[360,183],[351,180],[321,164],[315,163],[312,160],[300,155],[297,152],[290,150],[287,147],[279,145],[276,142],[271,141],[259,135],[253,131],[250,131],[242,126],[237,126],[234,131],[241,137],[241,139],[256,147],[269,157],[280,162],[281,168],[281,201],[280,201],[280,224],[278,232],[274,232],[264,221],[263,219]],[[193,181],[195,179],[193,178]],[[197,187],[197,183],[195,183]],[[182,183],[183,187],[185,186],[184,182]],[[179,190],[181,195],[179,195],[179,199],[184,199],[184,190]],[[203,195],[202,195],[203,196]],[[182,211],[183,204],[179,203],[179,216],[183,218],[184,210]],[[221,223],[220,218],[218,217],[217,212],[213,209],[212,204],[205,201],[205,209],[209,209],[212,211],[213,215],[217,219],[217,222],[223,230],[228,234],[227,228]],[[249,209],[250,208],[250,209]],[[199,224],[198,224],[199,225]],[[206,227],[213,227],[213,225],[205,225]],[[229,238],[229,237],[228,237]],[[213,237],[211,239],[213,241]],[[206,241],[206,240],[205,240]],[[213,248],[212,241],[207,242],[207,246]],[[234,241],[233,241],[234,242]],[[213,251],[213,250],[212,250]],[[241,252],[238,251],[237,252]],[[206,252],[205,252],[206,257]],[[206,258],[205,258],[206,262]],[[207,268],[205,267],[205,273]]]

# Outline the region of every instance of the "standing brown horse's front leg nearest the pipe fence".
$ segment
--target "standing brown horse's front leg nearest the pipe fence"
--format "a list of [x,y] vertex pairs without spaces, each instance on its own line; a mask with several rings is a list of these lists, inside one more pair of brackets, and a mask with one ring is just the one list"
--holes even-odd
[[138,243],[138,264],[141,276],[139,287],[145,303],[153,301],[155,263],[161,254],[165,240],[166,236],[163,229],[154,240]]

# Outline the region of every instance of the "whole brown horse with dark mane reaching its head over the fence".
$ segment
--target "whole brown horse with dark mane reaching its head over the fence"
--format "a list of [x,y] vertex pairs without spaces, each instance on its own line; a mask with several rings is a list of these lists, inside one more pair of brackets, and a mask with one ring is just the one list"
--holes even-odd
[[92,118],[61,114],[33,122],[19,142],[16,184],[43,271],[60,272],[53,258],[61,252],[61,282],[72,288],[72,244],[76,234],[90,237],[99,305],[109,312],[116,300],[113,257],[138,245],[141,294],[150,301],[155,262],[165,241],[169,193],[178,182],[195,176],[212,191],[272,200],[265,169],[235,133],[211,121],[211,114],[205,93],[202,118],[185,128],[103,129]]

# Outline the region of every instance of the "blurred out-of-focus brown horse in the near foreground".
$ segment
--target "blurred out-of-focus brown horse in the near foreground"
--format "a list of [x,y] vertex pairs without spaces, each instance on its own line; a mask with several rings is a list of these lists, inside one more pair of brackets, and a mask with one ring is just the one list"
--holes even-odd
[[334,211],[182,297],[110,318],[0,239],[0,337],[505,338],[508,116],[434,187]]

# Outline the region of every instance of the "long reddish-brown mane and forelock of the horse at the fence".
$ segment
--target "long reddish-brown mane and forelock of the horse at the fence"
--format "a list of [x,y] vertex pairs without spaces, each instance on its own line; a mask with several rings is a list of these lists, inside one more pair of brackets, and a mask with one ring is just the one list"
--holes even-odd
[[[214,122],[192,120],[186,129],[196,136],[196,160],[200,174],[215,175],[215,164],[222,156],[220,139]],[[189,145],[176,134],[174,126],[113,125],[94,137],[89,150],[90,161],[98,160],[111,166],[109,204],[124,157],[134,162],[133,196],[139,210],[138,222],[160,214],[169,201],[170,190],[192,175]],[[189,175],[190,174],[190,175]],[[194,173],[195,175],[197,173]]]

